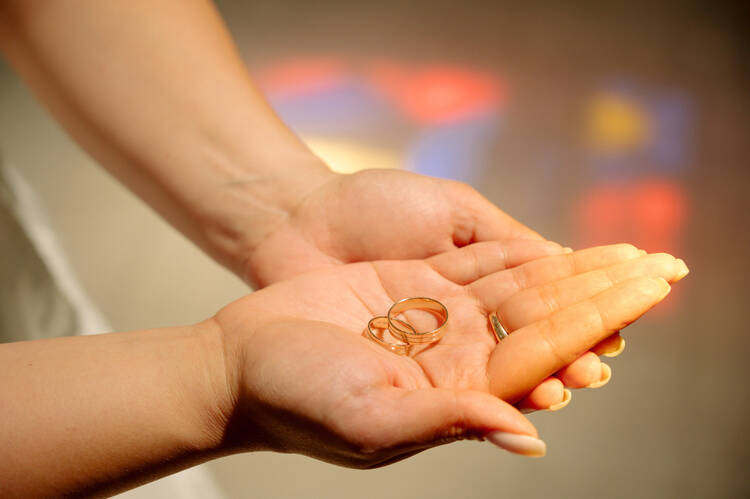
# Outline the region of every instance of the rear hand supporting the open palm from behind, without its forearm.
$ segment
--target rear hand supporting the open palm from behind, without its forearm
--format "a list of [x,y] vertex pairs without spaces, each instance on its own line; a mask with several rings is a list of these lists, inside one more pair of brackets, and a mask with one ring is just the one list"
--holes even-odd
[[318,182],[252,250],[241,266],[246,280],[264,287],[336,264],[426,258],[480,241],[542,239],[461,182],[398,170]]

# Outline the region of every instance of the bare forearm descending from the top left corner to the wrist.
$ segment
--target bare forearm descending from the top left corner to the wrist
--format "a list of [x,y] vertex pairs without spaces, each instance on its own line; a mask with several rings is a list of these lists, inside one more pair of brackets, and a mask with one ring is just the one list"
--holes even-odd
[[0,47],[102,165],[242,259],[331,173],[255,89],[210,2],[0,2]]

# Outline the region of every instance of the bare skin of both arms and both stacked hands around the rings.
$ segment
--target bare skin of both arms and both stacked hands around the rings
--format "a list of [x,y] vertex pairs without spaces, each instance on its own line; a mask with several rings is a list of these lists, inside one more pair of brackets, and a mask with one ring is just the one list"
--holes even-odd
[[[538,455],[510,403],[606,382],[596,354],[687,272],[630,246],[567,254],[460,183],[334,174],[203,0],[4,0],[0,49],[100,164],[264,288],[195,326],[1,345],[10,496],[111,492],[243,450],[367,468],[487,438]],[[439,344],[398,357],[360,336],[425,294],[451,311]],[[499,345],[491,310],[512,331]]]

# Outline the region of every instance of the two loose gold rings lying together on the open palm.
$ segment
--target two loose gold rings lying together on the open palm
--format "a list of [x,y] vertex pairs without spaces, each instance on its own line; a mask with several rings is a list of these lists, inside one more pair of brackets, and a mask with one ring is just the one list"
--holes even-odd
[[[406,321],[398,319],[397,316],[407,310],[422,310],[431,313],[437,318],[437,327],[430,331],[420,332]],[[448,323],[448,309],[439,301],[426,298],[405,298],[399,300],[388,309],[386,315],[373,317],[367,323],[366,336],[378,345],[399,355],[408,355],[410,347],[415,344],[434,343],[443,337],[445,325]],[[391,335],[401,340],[402,343],[391,343],[385,341],[375,334],[375,329],[387,329]]]

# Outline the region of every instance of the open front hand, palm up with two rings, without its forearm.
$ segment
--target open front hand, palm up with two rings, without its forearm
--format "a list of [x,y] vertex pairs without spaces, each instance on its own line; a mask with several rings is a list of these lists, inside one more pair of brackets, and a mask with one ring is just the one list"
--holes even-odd
[[[479,243],[426,260],[342,265],[229,305],[215,318],[234,400],[227,445],[364,468],[462,438],[543,454],[507,402],[637,319],[686,269],[628,245],[536,260],[532,246]],[[440,342],[406,357],[361,336],[370,318],[410,296],[447,306]],[[487,322],[493,310],[513,329],[500,344]]]

